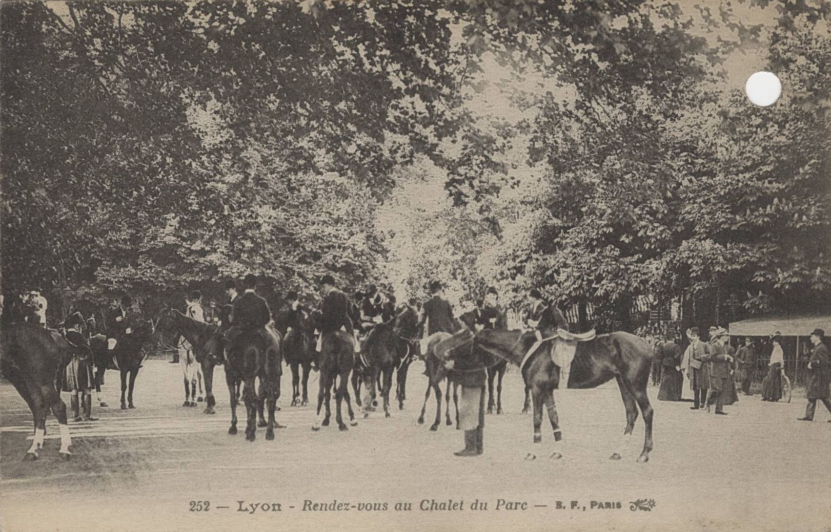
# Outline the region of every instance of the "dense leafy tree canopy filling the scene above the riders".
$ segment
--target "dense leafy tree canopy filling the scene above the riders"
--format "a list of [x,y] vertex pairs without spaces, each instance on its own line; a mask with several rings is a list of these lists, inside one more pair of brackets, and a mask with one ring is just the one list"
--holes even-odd
[[[331,272],[399,300],[432,278],[461,304],[538,286],[621,318],[638,295],[716,317],[728,301],[828,306],[822,6],[7,2],[0,16],[4,290],[178,299],[253,271],[311,297]],[[770,108],[730,81],[753,50],[784,82]]]

